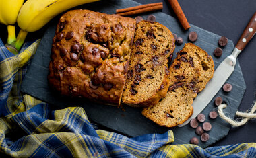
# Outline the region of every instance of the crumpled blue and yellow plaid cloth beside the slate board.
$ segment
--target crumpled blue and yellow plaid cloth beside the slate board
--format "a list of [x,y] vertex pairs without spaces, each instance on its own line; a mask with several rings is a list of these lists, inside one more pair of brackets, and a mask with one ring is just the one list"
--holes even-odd
[[172,145],[172,131],[128,138],[95,130],[80,107],[52,110],[20,92],[40,40],[14,56],[0,39],[0,157],[256,157],[256,143]]

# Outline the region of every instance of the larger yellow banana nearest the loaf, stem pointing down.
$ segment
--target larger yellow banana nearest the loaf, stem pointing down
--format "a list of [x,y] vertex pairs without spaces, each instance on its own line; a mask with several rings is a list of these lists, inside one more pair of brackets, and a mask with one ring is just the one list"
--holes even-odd
[[94,1],[99,0],[27,0],[18,15],[17,22],[21,30],[15,48],[20,49],[28,32],[39,30],[59,13]]

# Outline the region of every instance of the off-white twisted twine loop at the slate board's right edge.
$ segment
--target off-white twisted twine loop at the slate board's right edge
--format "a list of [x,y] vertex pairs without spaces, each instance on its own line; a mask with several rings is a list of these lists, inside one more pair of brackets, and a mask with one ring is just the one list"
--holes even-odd
[[243,117],[243,119],[240,121],[232,120],[231,118],[229,118],[228,116],[226,116],[224,114],[223,109],[226,108],[226,106],[227,106],[226,104],[220,104],[220,106],[218,106],[218,113],[219,113],[220,118],[222,118],[223,120],[225,120],[226,122],[231,124],[232,127],[243,126],[250,119],[256,118],[256,114],[254,114],[254,112],[256,111],[256,102],[254,103],[250,112],[248,112],[248,113],[247,112],[238,112],[238,111],[236,112],[236,116]]

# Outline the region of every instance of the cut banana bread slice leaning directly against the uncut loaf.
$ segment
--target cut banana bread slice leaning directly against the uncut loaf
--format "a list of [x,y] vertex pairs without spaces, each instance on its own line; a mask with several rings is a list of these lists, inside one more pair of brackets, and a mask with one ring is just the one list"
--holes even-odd
[[131,61],[123,90],[130,106],[157,104],[168,91],[168,59],[174,51],[172,32],[158,22],[137,24]]

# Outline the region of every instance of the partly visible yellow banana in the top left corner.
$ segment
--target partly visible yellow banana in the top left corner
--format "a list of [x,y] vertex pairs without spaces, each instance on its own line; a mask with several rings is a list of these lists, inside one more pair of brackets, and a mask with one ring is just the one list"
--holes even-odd
[[7,25],[7,48],[17,54],[13,46],[16,41],[15,23],[24,0],[0,0],[0,23]]

